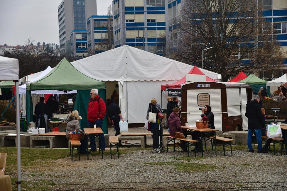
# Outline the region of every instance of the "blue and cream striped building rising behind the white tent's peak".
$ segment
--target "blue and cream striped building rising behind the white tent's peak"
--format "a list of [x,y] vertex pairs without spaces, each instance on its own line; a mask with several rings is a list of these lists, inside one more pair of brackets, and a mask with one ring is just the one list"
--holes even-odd
[[113,0],[114,46],[129,45],[163,55],[165,0]]

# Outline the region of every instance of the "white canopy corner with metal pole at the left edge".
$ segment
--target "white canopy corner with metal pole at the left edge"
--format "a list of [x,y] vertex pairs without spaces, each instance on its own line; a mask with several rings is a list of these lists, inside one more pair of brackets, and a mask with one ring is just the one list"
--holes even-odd
[[0,56],[0,81],[13,80],[16,90],[16,145],[17,145],[17,190],[21,190],[21,154],[20,154],[20,114],[19,114],[19,64],[18,59]]

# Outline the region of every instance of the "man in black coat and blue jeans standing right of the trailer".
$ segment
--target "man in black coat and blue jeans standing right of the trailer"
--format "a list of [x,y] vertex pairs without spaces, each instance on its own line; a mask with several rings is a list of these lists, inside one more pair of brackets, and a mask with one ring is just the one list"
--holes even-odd
[[252,134],[255,133],[258,145],[258,153],[267,153],[268,151],[262,149],[261,128],[264,123],[261,106],[259,105],[260,98],[254,95],[249,103],[246,104],[245,116],[248,118],[248,152],[253,153]]

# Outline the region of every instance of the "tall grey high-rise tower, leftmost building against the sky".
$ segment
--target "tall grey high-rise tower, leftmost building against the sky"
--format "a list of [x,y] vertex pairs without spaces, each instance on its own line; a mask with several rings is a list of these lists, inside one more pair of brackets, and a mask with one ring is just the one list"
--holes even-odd
[[87,30],[86,19],[97,14],[96,0],[63,0],[58,6],[60,54],[70,54],[71,32]]

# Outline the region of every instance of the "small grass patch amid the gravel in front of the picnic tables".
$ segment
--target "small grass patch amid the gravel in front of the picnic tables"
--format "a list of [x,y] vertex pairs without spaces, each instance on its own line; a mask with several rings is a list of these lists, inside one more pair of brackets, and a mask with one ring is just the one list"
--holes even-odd
[[154,163],[145,163],[148,165],[174,165],[175,169],[183,172],[203,172],[211,171],[216,168],[215,165],[210,164],[197,164],[197,163],[185,163],[185,162],[154,162]]

